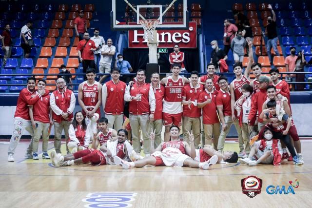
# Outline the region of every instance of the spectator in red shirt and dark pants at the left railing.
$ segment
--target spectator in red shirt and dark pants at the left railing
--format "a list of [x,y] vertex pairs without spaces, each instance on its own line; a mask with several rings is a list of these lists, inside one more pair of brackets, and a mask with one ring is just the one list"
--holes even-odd
[[[95,68],[94,55],[93,52],[96,49],[96,44],[90,40],[88,32],[83,34],[83,40],[79,41],[77,50],[79,61],[82,62],[83,73],[86,73],[86,70],[90,68]],[[84,80],[87,80],[87,77],[84,75]]]

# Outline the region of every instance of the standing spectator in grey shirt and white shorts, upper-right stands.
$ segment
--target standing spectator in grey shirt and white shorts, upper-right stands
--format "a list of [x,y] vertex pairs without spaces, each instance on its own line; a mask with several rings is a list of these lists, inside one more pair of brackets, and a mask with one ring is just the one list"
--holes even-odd
[[237,36],[231,42],[231,49],[233,51],[234,62],[235,63],[242,63],[244,58],[244,48],[246,45],[245,39],[242,37],[243,32],[239,30],[237,32]]

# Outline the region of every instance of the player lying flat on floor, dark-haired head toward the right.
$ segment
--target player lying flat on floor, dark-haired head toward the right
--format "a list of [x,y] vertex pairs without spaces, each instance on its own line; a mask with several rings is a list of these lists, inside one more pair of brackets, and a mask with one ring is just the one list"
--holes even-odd
[[195,161],[199,161],[201,163],[209,161],[212,156],[216,155],[218,157],[217,163],[237,163],[238,155],[237,152],[218,152],[211,145],[205,145],[204,148],[195,149],[196,157]]

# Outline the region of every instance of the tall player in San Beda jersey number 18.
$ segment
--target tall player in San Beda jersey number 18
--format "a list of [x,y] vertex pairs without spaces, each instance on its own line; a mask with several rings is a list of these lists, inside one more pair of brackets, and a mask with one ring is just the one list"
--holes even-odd
[[98,113],[99,117],[101,115],[99,106],[102,101],[102,84],[95,81],[95,69],[87,69],[86,76],[87,80],[80,83],[78,87],[78,103],[84,116],[86,116],[90,138],[93,138],[94,133],[97,133],[97,122],[90,118],[93,117],[94,113]]

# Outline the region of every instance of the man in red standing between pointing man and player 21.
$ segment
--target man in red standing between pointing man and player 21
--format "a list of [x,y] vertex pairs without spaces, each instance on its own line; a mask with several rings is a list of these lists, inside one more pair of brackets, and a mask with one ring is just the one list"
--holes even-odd
[[157,148],[161,143],[161,131],[162,131],[162,102],[165,96],[165,87],[159,83],[160,75],[155,72],[151,76],[151,85],[155,93],[155,114],[153,129],[155,129],[155,143],[154,148]]

